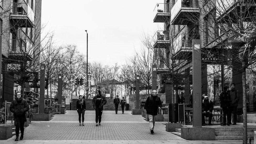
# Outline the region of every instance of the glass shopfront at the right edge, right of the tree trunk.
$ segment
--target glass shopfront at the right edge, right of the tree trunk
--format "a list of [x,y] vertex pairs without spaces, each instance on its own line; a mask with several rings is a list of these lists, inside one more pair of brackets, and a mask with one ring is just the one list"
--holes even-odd
[[247,111],[256,111],[256,68],[246,69]]

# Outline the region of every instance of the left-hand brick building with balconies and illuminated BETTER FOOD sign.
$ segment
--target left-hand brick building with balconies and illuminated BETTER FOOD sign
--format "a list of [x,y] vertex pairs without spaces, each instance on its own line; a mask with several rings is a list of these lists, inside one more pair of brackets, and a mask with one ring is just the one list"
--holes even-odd
[[29,82],[38,79],[41,0],[1,1],[0,22],[2,103],[12,101],[15,90],[28,91]]

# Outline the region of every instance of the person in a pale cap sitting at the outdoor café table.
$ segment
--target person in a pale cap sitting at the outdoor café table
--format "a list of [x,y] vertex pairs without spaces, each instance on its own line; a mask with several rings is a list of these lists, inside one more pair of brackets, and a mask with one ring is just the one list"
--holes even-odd
[[204,116],[209,117],[209,123],[208,125],[212,125],[212,110],[213,110],[213,103],[212,101],[208,98],[207,94],[203,94],[204,99],[202,101],[202,126],[206,125],[205,124],[205,119]]

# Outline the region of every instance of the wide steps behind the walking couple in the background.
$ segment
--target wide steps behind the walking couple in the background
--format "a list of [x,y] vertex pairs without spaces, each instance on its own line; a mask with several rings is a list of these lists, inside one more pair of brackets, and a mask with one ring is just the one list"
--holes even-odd
[[[78,99],[71,99],[71,110],[76,110],[76,102]],[[107,103],[104,105],[103,110],[115,110],[115,105],[113,99],[106,98]],[[92,99],[85,99],[86,110],[94,110]],[[121,110],[121,107],[118,107],[118,110]]]

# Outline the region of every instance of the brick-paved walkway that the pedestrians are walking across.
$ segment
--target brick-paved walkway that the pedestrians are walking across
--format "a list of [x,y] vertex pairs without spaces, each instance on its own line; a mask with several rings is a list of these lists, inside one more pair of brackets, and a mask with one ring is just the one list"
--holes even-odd
[[241,143],[242,141],[188,141],[165,130],[164,122],[156,122],[151,135],[149,124],[131,111],[103,111],[102,126],[95,126],[95,111],[86,111],[84,126],[78,114],[68,110],[56,114],[51,121],[32,121],[24,132],[24,140],[15,136],[0,143]]

